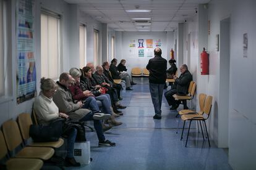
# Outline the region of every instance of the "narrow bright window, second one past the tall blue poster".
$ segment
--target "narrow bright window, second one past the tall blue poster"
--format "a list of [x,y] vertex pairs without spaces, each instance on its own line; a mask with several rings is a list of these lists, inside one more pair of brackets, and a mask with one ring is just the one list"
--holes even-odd
[[85,25],[79,26],[79,56],[80,68],[83,68],[87,63],[87,30]]

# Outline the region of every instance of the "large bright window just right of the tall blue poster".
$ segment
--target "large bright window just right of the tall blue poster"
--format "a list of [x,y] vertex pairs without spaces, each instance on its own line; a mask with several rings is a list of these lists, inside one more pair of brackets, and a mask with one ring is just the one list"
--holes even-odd
[[41,76],[58,79],[60,72],[60,17],[41,13]]

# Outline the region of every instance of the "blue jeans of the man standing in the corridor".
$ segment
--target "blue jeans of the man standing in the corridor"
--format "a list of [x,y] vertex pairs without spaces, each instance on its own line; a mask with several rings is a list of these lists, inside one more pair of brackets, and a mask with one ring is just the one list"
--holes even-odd
[[150,94],[151,99],[155,108],[155,114],[161,116],[161,105],[162,105],[162,98],[163,98],[163,89],[164,84],[154,84],[150,83]]

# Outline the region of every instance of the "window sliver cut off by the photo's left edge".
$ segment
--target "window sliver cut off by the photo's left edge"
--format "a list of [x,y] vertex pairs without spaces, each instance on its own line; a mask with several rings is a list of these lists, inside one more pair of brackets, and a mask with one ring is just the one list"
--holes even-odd
[[5,20],[4,20],[4,14],[5,14],[5,6],[4,1],[0,0],[0,96],[4,95],[4,81],[5,81],[5,59],[6,59],[6,38],[4,35],[5,33]]

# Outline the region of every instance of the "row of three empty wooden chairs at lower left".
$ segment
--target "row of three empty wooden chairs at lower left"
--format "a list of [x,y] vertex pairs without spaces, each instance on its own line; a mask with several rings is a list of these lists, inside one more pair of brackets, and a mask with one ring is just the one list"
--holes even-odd
[[[0,160],[7,159],[6,169],[40,169],[43,161],[54,155],[54,149],[64,144],[63,139],[57,142],[31,142],[28,144],[29,128],[32,124],[30,114],[21,113],[17,121],[8,120],[0,130]],[[20,148],[19,152],[15,152]],[[14,153],[14,154],[10,154]]]

